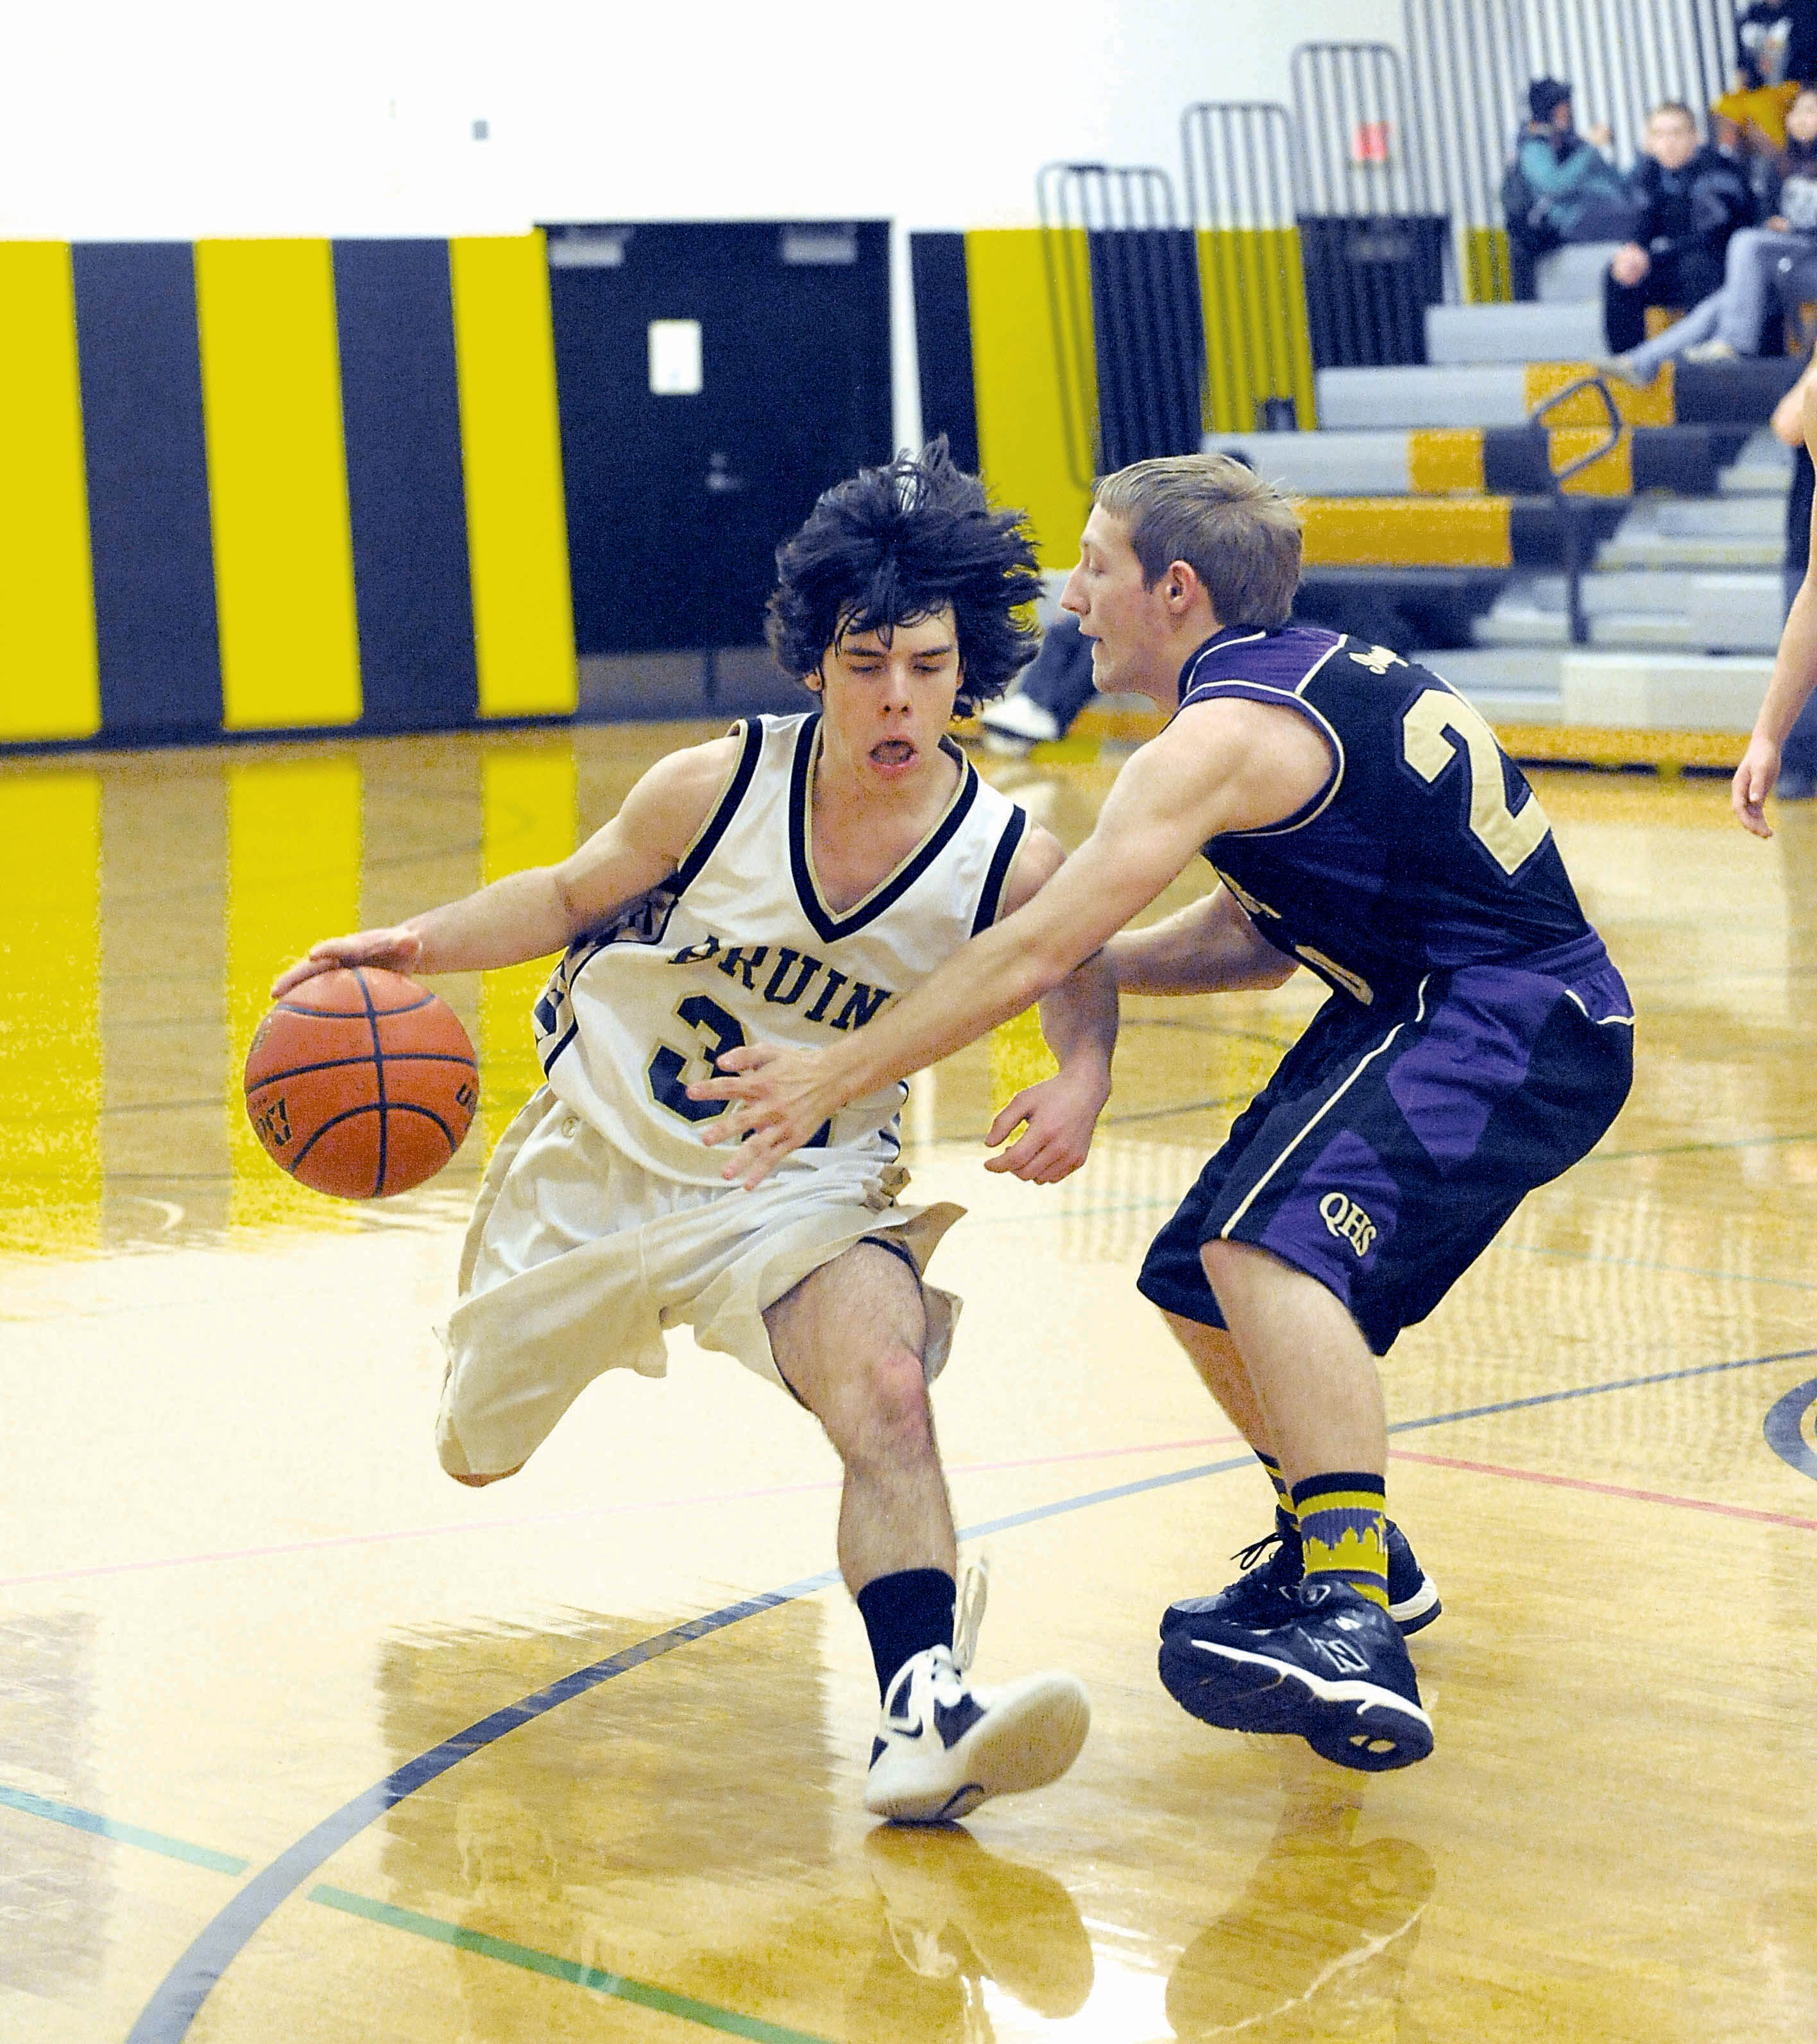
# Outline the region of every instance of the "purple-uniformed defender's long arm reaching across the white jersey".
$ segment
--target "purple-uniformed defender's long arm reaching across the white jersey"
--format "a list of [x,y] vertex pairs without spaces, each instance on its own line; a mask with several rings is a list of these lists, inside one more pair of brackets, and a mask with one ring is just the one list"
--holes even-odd
[[1224,830],[1259,830],[1318,793],[1331,758],[1308,722],[1245,701],[1196,705],[1143,746],[1098,828],[1014,916],[963,944],[875,1022],[826,1051],[748,1044],[695,1100],[734,1106],[707,1143],[736,1143],[726,1177],[758,1186],[848,1100],[963,1049],[1057,987]]

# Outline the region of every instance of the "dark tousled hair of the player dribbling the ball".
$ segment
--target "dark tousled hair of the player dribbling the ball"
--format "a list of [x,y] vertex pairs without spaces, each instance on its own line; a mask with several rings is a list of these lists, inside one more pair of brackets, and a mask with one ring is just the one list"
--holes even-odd
[[852,632],[918,623],[952,605],[959,699],[969,717],[1034,658],[1036,628],[1016,611],[1040,595],[1034,542],[1020,511],[991,511],[983,484],[946,452],[946,435],[885,468],[860,468],[816,503],[777,548],[771,652],[805,681]]

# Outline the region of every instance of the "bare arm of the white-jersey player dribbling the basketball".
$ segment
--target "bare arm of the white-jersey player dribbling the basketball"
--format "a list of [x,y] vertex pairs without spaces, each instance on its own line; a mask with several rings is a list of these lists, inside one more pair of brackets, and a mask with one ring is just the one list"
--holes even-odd
[[278,975],[272,997],[337,965],[380,965],[394,973],[486,973],[566,950],[576,936],[607,922],[681,865],[736,762],[734,738],[670,752],[572,858],[507,873],[478,893],[388,930],[331,936]]

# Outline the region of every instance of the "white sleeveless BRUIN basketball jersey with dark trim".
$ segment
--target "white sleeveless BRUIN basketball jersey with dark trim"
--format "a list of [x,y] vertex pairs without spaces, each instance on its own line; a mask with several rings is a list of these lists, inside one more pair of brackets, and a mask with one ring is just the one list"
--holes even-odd
[[[816,1049],[863,1028],[995,920],[1028,822],[942,740],[961,771],[940,822],[834,914],[811,858],[820,713],[736,732],[738,766],[681,867],[572,944],[535,1004],[550,1087],[627,1157],[697,1186],[724,1186],[730,1153],[701,1143],[724,1106],[689,1100],[689,1083],[744,1042]],[[889,1163],[903,1096],[854,1100],[785,1169],[830,1153]]]

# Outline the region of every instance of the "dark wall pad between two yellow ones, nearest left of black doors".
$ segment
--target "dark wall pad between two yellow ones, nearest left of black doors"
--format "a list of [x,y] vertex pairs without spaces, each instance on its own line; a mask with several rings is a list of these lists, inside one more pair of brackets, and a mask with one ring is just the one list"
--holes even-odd
[[446,241],[337,241],[335,325],[364,722],[478,715]]

